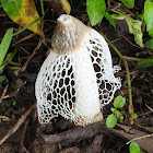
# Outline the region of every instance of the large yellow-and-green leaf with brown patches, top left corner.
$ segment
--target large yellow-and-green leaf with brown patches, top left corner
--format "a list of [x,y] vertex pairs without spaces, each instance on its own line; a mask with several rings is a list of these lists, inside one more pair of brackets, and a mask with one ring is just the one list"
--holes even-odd
[[[1,4],[9,17],[23,27],[39,19],[34,0],[1,0]],[[27,28],[44,36],[40,21],[35,22]]]

